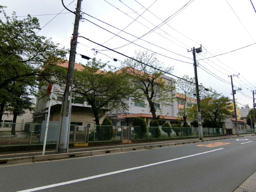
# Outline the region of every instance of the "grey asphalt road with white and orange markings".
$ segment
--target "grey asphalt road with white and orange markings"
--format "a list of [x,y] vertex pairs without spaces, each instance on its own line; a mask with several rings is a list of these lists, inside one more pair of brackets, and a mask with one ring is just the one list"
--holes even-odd
[[256,137],[248,136],[5,165],[0,166],[0,191],[28,192],[43,187],[42,192],[232,192],[256,171],[255,160]]

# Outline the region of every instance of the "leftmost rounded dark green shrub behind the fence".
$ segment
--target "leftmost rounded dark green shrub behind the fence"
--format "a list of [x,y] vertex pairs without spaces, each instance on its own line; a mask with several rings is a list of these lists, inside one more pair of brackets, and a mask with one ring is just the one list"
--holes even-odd
[[110,140],[114,135],[112,123],[109,118],[104,118],[99,130],[100,133],[97,133],[99,140]]

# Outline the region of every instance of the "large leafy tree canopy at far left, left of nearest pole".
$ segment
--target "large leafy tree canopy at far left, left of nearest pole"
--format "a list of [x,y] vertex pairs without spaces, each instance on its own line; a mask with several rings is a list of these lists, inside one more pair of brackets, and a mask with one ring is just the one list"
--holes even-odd
[[[15,82],[33,94],[38,88],[37,77],[50,79],[56,73],[49,74],[41,68],[63,62],[67,50],[59,49],[51,39],[36,34],[35,31],[40,30],[37,18],[28,15],[18,20],[15,12],[8,17],[3,6],[0,6],[0,13],[4,16],[4,20],[0,20],[0,92],[9,92],[9,87]],[[3,114],[9,100],[3,94],[0,97],[0,113]]]

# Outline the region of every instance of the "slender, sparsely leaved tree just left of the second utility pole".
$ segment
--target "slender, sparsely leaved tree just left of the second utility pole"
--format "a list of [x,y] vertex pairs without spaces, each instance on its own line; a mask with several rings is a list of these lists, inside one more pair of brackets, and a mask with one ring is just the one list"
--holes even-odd
[[187,126],[187,111],[186,111],[186,103],[187,99],[192,97],[195,92],[195,84],[192,83],[195,81],[195,78],[189,78],[189,76],[184,75],[182,79],[176,80],[176,90],[178,93],[182,94],[184,98],[179,98],[184,100],[184,108],[183,108],[183,127]]

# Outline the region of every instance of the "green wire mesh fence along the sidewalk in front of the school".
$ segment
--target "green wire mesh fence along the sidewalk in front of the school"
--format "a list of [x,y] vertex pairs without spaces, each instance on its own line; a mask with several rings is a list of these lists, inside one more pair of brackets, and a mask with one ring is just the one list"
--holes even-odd
[[[11,134],[13,123],[0,124],[0,146],[43,144],[46,124],[15,124],[15,135]],[[17,127],[19,127],[17,129]],[[47,144],[55,144],[58,122],[50,122]],[[239,130],[240,134],[253,133],[254,129]],[[70,125],[69,142],[123,141],[154,138],[198,137],[198,128],[192,127],[128,127],[128,126],[76,126]],[[222,128],[203,128],[203,135],[224,135]]]

